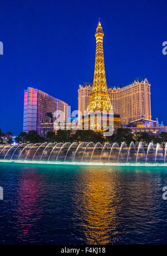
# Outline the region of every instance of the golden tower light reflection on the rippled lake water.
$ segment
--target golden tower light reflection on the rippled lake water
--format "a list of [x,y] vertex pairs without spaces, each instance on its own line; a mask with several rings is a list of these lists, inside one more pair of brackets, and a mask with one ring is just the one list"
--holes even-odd
[[75,215],[87,244],[109,244],[111,234],[116,235],[119,191],[115,176],[113,172],[111,179],[111,171],[87,169],[77,183]]

